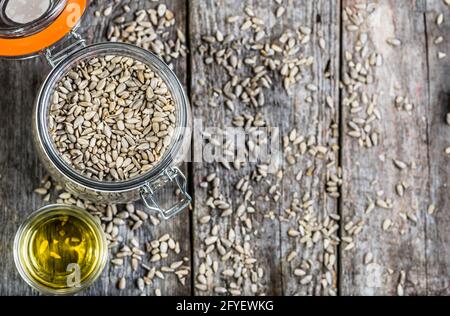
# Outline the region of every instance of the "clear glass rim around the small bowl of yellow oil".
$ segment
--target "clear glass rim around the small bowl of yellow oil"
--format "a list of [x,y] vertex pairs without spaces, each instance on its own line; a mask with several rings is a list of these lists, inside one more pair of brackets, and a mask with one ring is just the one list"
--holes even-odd
[[[29,227],[29,225],[36,220],[39,217],[42,217],[42,219],[45,219],[46,215],[51,214],[55,211],[65,211],[70,213],[70,215],[73,215],[77,218],[82,219],[83,221],[88,221],[89,225],[91,225],[93,228],[95,228],[95,232],[98,235],[100,242],[100,249],[99,254],[101,255],[100,261],[92,275],[89,276],[87,280],[85,280],[82,284],[80,284],[79,287],[74,288],[66,288],[66,289],[50,289],[48,287],[43,286],[39,282],[35,281],[32,277],[30,277],[29,273],[26,271],[24,264],[20,258],[19,253],[21,252],[20,246],[22,242],[22,238],[24,237],[23,234],[25,230]],[[33,289],[43,293],[43,294],[51,294],[51,295],[71,295],[78,292],[81,292],[91,286],[103,273],[103,270],[106,267],[106,263],[108,261],[108,246],[107,246],[107,240],[106,235],[103,232],[102,227],[100,224],[96,221],[94,216],[92,216],[89,212],[87,212],[84,209],[81,209],[77,206],[73,205],[64,205],[64,204],[52,204],[44,206],[33,213],[31,213],[25,221],[19,226],[19,229],[16,232],[16,235],[14,237],[14,246],[13,246],[13,255],[14,255],[14,262],[15,266],[22,277],[22,279]]]

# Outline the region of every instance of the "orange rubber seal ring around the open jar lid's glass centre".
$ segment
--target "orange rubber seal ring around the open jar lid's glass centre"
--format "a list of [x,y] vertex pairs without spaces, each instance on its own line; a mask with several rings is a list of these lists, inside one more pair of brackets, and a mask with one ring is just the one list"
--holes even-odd
[[[9,0],[16,1],[16,0]],[[58,1],[52,1],[49,3],[57,3]],[[35,21],[25,25],[28,27],[28,31],[23,24],[15,24],[7,30],[25,29],[23,34],[19,36],[11,35],[6,36],[0,32],[0,56],[3,57],[23,57],[39,53],[45,48],[54,45],[56,42],[64,38],[80,21],[87,8],[87,0],[65,0],[59,1],[62,3],[62,11],[57,12],[57,16],[48,17],[46,14],[50,12],[50,8],[42,17],[38,20],[41,26],[31,28]],[[1,0],[0,0],[1,3]],[[8,1],[6,1],[6,7]],[[3,12],[4,8],[3,8]],[[1,18],[1,17],[0,17]],[[44,21],[47,20],[50,21]],[[8,19],[8,17],[6,17]],[[13,32],[10,32],[13,33]],[[3,36],[2,36],[3,35]]]

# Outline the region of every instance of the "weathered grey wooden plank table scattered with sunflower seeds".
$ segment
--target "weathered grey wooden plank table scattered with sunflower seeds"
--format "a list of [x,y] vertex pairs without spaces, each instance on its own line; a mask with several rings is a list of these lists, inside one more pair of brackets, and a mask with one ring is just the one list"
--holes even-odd
[[[124,3],[128,1],[122,1]],[[168,8],[176,14],[178,27],[186,35],[190,54],[178,59],[175,71],[190,94],[195,118],[204,119],[204,124],[228,126],[232,114],[222,104],[208,106],[211,89],[223,84],[223,74],[217,65],[206,66],[198,51],[201,37],[222,32],[239,32],[239,28],[225,23],[233,15],[243,15],[244,2],[251,5],[257,16],[264,19],[270,28],[269,36],[277,38],[285,27],[292,29],[300,25],[312,29],[312,45],[308,55],[314,56],[312,78],[317,91],[307,92],[302,82],[292,95],[287,95],[279,77],[267,91],[266,106],[258,111],[272,126],[280,128],[282,135],[294,128],[298,135],[314,136],[319,144],[332,146],[337,159],[311,158],[305,155],[293,166],[285,165],[284,176],[279,179],[276,190],[279,199],[265,201],[268,187],[254,184],[253,199],[257,201],[256,212],[251,215],[257,234],[251,239],[251,248],[258,265],[264,268],[259,281],[258,294],[268,295],[449,295],[450,294],[450,156],[444,153],[450,147],[450,126],[445,122],[450,112],[450,7],[443,0],[389,1],[374,0],[377,11],[361,26],[369,34],[372,49],[383,55],[384,62],[377,68],[376,78],[370,85],[360,89],[368,95],[378,94],[378,110],[381,119],[374,124],[378,133],[378,146],[360,146],[350,136],[352,128],[351,105],[346,89],[339,89],[351,72],[346,52],[354,51],[356,34],[343,12],[354,5],[366,3],[356,0],[283,0],[286,12],[275,18],[278,7],[275,1],[239,0],[167,0]],[[109,1],[92,1],[90,12],[83,22],[81,34],[89,42],[105,39],[105,30],[111,17],[95,17]],[[132,8],[155,7],[150,1],[132,1]],[[119,10],[119,9],[118,9]],[[351,10],[351,9],[349,9]],[[437,25],[437,13],[444,13],[444,22]],[[321,49],[317,34],[322,32],[325,49]],[[442,35],[445,40],[436,45],[435,39]],[[398,47],[389,45],[387,38],[399,38]],[[438,53],[446,53],[438,58]],[[31,112],[49,67],[43,59],[24,61],[3,60],[0,62],[0,294],[32,295],[33,292],[17,273],[12,256],[14,234],[25,217],[44,203],[33,194],[34,188],[45,172],[39,163],[31,139]],[[205,85],[200,85],[201,80]],[[305,98],[312,94],[313,102]],[[408,96],[412,110],[399,111],[395,98]],[[328,102],[327,102],[328,99]],[[334,110],[326,104],[334,106]],[[236,110],[237,111],[237,110]],[[255,110],[248,108],[249,113]],[[237,112],[235,112],[237,113]],[[354,136],[354,135],[353,135]],[[405,162],[406,166],[393,160]],[[332,198],[326,192],[327,173],[342,168],[343,184],[340,197]],[[406,168],[403,168],[406,167]],[[218,163],[193,163],[187,166],[190,192],[194,197],[193,211],[184,212],[177,218],[157,227],[146,224],[138,236],[142,240],[158,238],[164,233],[180,241],[182,255],[189,258],[191,275],[185,286],[173,276],[158,280],[147,287],[153,294],[159,288],[163,295],[207,295],[216,294],[214,289],[226,286],[230,278],[219,271],[211,280],[207,291],[199,291],[194,280],[200,264],[205,260],[199,255],[205,249],[204,239],[213,224],[218,224],[221,234],[231,227],[243,224],[232,215],[220,218],[206,205],[207,190],[200,184],[205,177],[215,172],[221,179],[221,193],[239,205],[242,194],[234,189],[236,182],[254,166],[244,166],[239,171],[227,170]],[[298,180],[297,174],[304,176]],[[402,197],[396,186],[404,181],[406,190]],[[302,243],[300,237],[288,236],[296,227],[295,219],[286,217],[291,207],[294,192],[300,198],[310,193],[314,216],[325,218],[327,214],[339,214],[338,236],[344,241],[327,245],[324,238],[312,244]],[[378,201],[378,207],[366,214],[370,201]],[[392,199],[393,207],[384,209],[383,201]],[[430,205],[436,211],[429,214]],[[199,224],[199,219],[212,214],[208,225]],[[274,218],[265,216],[273,214]],[[383,230],[386,219],[392,227]],[[360,223],[362,231],[348,241],[349,222]],[[239,226],[239,227],[240,227]],[[345,241],[347,240],[347,242]],[[354,243],[354,247],[353,244]],[[350,244],[350,246],[349,246]],[[296,251],[288,262],[287,257]],[[371,253],[373,260],[365,257]],[[324,262],[333,261],[328,267]],[[220,261],[217,252],[210,254],[212,261]],[[335,259],[335,261],[334,261]],[[370,258],[369,258],[370,259]],[[305,263],[311,264],[310,282],[294,276],[294,270]],[[125,268],[108,266],[101,279],[86,295],[137,295],[139,291],[129,279],[126,291],[118,291],[116,282]],[[328,273],[327,273],[328,271]],[[126,272],[128,275],[131,272]],[[404,277],[402,275],[404,274]],[[137,273],[133,278],[138,277]],[[329,278],[332,285],[324,289],[323,279]],[[303,284],[302,284],[303,283]],[[400,284],[400,287],[399,287]],[[329,290],[331,288],[331,291]],[[253,295],[251,286],[242,286],[242,294]]]

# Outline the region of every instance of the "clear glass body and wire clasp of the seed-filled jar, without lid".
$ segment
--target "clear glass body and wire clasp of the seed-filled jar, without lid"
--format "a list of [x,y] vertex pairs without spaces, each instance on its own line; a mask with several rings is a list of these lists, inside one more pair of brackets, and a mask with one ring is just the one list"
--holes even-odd
[[[96,181],[76,172],[61,158],[48,132],[48,113],[55,84],[81,60],[103,55],[127,56],[148,65],[169,87],[177,113],[172,143],[158,164],[139,177],[121,182]],[[186,178],[177,168],[189,150],[191,122],[189,102],[183,87],[163,61],[134,45],[100,43],[86,46],[70,54],[48,75],[33,112],[33,138],[44,166],[68,192],[98,203],[120,204],[141,198],[150,210],[159,212],[167,219],[185,209],[191,202],[187,193]],[[169,207],[162,207],[162,203],[157,200],[157,192],[172,183],[179,190],[178,201]]]

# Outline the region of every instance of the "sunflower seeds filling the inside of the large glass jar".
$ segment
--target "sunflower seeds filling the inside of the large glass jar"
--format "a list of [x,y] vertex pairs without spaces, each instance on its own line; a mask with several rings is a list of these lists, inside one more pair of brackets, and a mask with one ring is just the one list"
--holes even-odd
[[171,144],[175,103],[149,66],[124,56],[80,62],[57,84],[49,132],[65,162],[100,181],[151,170]]

